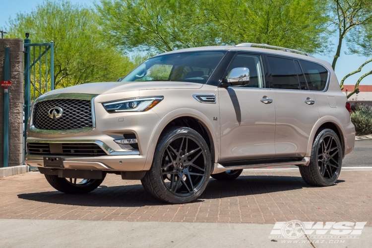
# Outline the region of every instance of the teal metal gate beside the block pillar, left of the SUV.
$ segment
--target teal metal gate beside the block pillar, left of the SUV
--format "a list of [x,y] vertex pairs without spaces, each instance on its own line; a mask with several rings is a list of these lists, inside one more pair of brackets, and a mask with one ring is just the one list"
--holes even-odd
[[26,151],[26,128],[31,115],[31,106],[36,98],[54,90],[54,43],[32,44],[24,40],[24,140],[23,148]]

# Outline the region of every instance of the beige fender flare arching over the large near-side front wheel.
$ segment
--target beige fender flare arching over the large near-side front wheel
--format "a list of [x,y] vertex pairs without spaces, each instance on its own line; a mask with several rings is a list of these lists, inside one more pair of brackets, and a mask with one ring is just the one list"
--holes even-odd
[[[197,131],[206,141],[208,144],[212,164],[216,163],[219,156],[219,146],[218,146],[218,136],[217,133],[219,131],[218,124],[212,124],[208,120],[208,118],[203,115],[201,112],[198,112],[193,109],[177,109],[170,113],[168,113],[159,124],[156,126],[154,133],[152,134],[150,146],[147,151],[147,157],[145,166],[143,168],[144,171],[150,169],[154,153],[156,149],[156,145],[159,141],[161,134],[171,126],[186,126],[189,128],[194,129]],[[213,167],[213,166],[212,166]]]

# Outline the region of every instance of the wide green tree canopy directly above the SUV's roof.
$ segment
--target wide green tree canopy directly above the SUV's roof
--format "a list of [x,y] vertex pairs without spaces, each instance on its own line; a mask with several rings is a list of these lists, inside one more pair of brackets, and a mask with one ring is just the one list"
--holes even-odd
[[125,51],[267,43],[323,52],[322,0],[101,0],[103,34]]

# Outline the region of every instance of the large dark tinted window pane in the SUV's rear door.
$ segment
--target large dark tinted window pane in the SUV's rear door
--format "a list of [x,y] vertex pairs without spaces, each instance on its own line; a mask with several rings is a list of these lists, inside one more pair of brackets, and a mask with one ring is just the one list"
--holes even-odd
[[299,78],[293,60],[270,56],[267,59],[271,70],[271,88],[300,89]]

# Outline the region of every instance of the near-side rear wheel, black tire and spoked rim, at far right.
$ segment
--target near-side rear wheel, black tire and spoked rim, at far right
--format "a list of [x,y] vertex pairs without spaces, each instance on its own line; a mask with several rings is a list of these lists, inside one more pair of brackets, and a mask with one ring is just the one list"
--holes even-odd
[[332,129],[322,129],[315,136],[309,166],[300,165],[304,181],[311,186],[331,186],[340,176],[342,146]]

